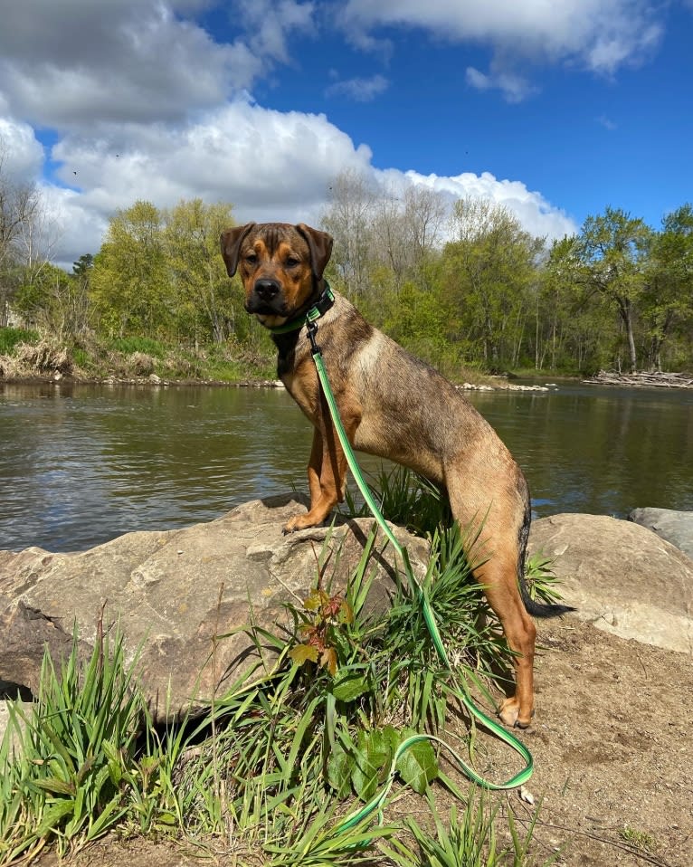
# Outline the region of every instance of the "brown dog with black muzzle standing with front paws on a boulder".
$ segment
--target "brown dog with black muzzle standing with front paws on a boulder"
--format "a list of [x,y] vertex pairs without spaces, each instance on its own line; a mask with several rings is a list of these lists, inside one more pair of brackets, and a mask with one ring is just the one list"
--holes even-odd
[[[314,527],[344,498],[346,457],[337,440],[311,356],[306,314],[317,305],[318,344],[349,442],[441,485],[465,527],[483,520],[489,559],[475,576],[516,653],[516,694],[499,714],[527,727],[534,705],[536,629],[527,614],[557,615],[525,586],[530,507],[527,481],[493,428],[432,367],[372,328],[323,278],[332,238],[305,224],[237,226],[222,235],[230,277],[238,271],[245,309],[271,329],[278,374],[315,427],[308,479],[310,509],[286,530]],[[331,303],[334,298],[334,303]],[[524,600],[524,602],[523,602]]]

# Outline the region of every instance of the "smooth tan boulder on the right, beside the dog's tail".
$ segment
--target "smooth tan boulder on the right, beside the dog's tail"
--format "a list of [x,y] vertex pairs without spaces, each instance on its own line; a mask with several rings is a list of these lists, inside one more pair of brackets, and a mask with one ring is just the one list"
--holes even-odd
[[534,521],[530,552],[553,557],[574,616],[599,629],[693,653],[693,560],[649,529],[599,515]]

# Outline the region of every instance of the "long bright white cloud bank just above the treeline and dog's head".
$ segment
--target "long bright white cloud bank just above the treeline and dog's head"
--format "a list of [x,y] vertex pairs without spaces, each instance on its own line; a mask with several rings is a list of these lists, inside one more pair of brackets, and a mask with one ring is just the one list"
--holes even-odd
[[519,181],[489,173],[448,177],[376,170],[370,149],[355,147],[324,115],[238,101],[177,132],[163,125],[138,127],[128,138],[122,152],[104,138],[67,137],[53,148],[53,157],[63,161],[64,180],[75,187],[43,186],[49,210],[62,225],[54,251],[58,262],[69,265],[84,252],[97,252],[109,216],[138,199],[170,207],[201,196],[231,202],[240,222],[316,224],[328,205],[330,181],[347,167],[388,190],[414,184],[440,191],[451,202],[464,195],[490,198],[537,235],[576,231],[563,211]]

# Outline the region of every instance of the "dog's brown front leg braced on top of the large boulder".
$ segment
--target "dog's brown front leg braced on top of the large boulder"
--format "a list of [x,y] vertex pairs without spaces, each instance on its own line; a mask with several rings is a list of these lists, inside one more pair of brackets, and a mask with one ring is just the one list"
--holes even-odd
[[[343,415],[342,417],[342,424],[350,443],[354,442],[354,433],[359,420],[357,416],[345,418]],[[316,426],[310,450],[308,465],[310,509],[305,515],[297,515],[290,519],[284,527],[284,532],[317,527],[328,517],[337,503],[344,500],[346,455],[339,444],[334,425],[328,422],[327,429],[321,428],[322,425]]]

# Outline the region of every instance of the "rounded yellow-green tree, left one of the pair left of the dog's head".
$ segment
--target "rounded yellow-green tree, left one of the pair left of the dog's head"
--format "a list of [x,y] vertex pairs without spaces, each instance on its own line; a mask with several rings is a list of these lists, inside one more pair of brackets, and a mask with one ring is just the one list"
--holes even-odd
[[175,311],[155,205],[138,201],[113,215],[94,258],[90,299],[111,335],[169,336]]

